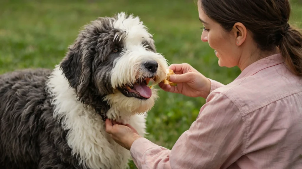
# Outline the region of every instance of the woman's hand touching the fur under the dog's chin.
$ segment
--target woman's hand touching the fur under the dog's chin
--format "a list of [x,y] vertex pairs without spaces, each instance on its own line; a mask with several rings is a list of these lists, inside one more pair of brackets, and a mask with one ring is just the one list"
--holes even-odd
[[121,124],[110,119],[106,119],[106,132],[119,145],[130,150],[132,143],[141,136],[130,124]]

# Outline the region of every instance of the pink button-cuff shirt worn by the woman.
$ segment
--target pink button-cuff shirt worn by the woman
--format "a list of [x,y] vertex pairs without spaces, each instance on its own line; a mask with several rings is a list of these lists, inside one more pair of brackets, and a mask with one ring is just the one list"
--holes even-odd
[[134,141],[138,168],[302,169],[302,78],[280,54],[251,64],[230,84],[211,82],[196,121],[172,150]]

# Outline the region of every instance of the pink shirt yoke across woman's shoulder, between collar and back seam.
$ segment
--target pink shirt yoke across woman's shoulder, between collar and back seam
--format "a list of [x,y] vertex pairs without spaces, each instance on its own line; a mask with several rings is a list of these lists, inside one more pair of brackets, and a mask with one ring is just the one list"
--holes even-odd
[[[284,74],[263,76],[260,72],[211,91],[207,101],[213,97],[226,97],[246,115],[276,101],[281,105],[286,105],[288,100],[297,101],[294,95],[301,93],[301,78]],[[302,97],[298,99],[302,103]]]

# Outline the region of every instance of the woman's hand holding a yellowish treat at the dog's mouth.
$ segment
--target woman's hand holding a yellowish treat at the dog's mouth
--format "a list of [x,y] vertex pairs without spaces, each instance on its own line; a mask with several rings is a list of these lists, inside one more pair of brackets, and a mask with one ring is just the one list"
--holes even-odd
[[165,85],[161,82],[159,87],[164,91],[180,93],[188,97],[203,98],[207,98],[210,94],[210,80],[188,63],[172,64],[169,69],[175,73],[175,75],[170,76],[170,81],[177,83],[177,86]]

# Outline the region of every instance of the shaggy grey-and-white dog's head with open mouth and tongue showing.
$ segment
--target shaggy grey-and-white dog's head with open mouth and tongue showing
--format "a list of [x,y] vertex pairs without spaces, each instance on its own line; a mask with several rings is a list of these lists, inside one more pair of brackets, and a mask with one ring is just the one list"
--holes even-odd
[[157,84],[168,64],[156,52],[153,37],[138,17],[120,13],[84,26],[60,69],[76,95],[97,108],[104,101],[121,111],[146,112],[157,98]]

